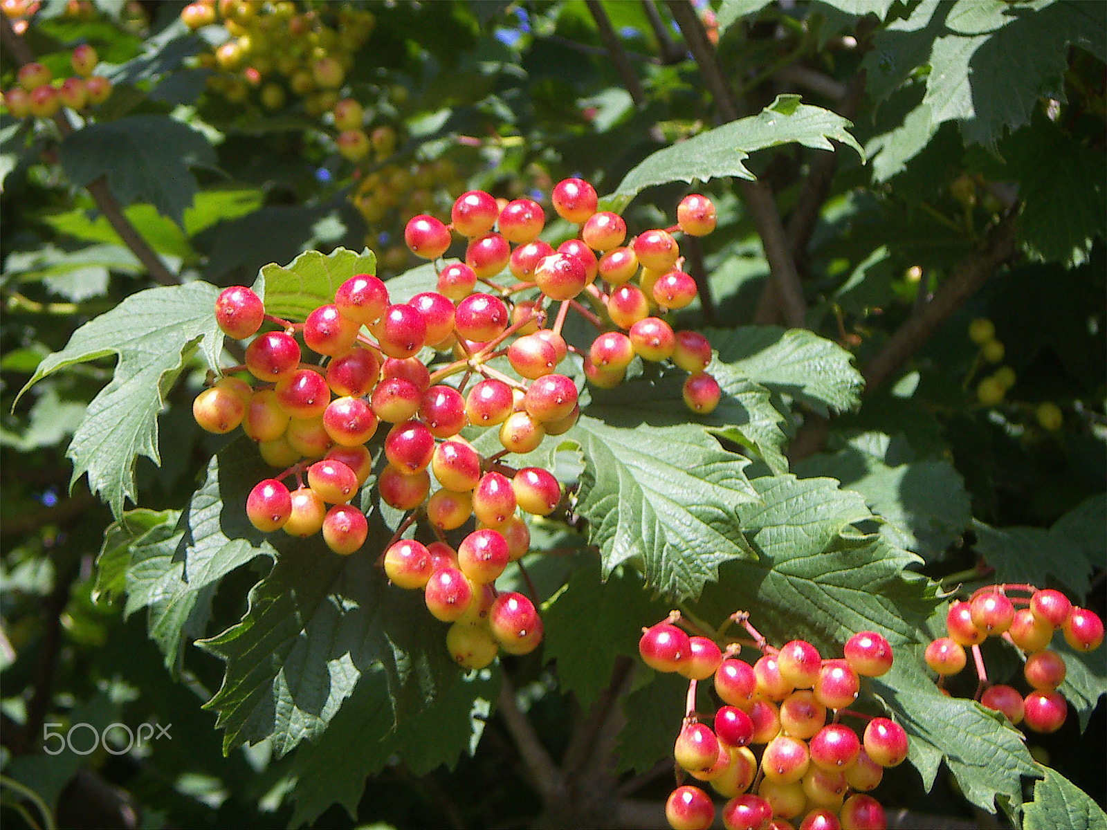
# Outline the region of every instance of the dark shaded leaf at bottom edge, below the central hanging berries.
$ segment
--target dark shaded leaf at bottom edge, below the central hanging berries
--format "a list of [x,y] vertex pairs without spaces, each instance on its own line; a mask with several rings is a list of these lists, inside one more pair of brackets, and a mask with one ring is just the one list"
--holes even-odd
[[476,748],[499,696],[499,678],[492,670],[458,674],[425,709],[393,726],[385,673],[365,673],[330,728],[293,756],[296,810],[289,827],[314,821],[332,803],[356,817],[365,779],[396,758],[416,776],[442,765],[453,769],[462,753]]

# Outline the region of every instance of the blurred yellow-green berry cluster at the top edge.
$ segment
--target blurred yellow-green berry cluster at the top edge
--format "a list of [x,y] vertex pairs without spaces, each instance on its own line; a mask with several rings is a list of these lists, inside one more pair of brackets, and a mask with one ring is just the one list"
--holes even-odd
[[180,11],[189,29],[223,23],[230,38],[199,56],[215,73],[208,89],[236,105],[252,95],[266,110],[280,110],[289,94],[321,116],[339,101],[339,87],[354,53],[373,30],[372,12],[322,6],[300,10],[289,0],[196,0]]

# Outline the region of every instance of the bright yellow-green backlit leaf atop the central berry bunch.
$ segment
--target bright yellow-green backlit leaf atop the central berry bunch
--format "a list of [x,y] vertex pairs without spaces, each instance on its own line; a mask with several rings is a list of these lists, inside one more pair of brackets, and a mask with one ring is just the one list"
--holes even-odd
[[355,273],[376,273],[376,257],[338,248],[331,253],[304,251],[288,266],[271,262],[261,269],[254,290],[266,311],[286,320],[303,320],[315,308],[334,301],[334,291]]

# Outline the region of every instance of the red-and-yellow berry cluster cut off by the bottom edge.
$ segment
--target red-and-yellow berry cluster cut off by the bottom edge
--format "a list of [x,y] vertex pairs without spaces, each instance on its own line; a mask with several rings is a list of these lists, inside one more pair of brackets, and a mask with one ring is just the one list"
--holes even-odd
[[[639,641],[646,665],[689,678],[673,748],[677,787],[665,805],[669,823],[675,830],[705,830],[715,819],[706,790],[682,782],[691,776],[728,799],[722,809],[727,830],[887,827],[883,808],[866,793],[886,767],[907,758],[907,733],[888,718],[847,707],[861,676],[876,677],[891,667],[888,641],[861,632],[846,643],[845,658],[824,660],[804,640],[768,645],[744,612],[731,621],[746,629],[752,640],[745,644],[761,652],[753,665],[738,656],[744,641],[732,639],[723,651],[715,640],[679,627],[684,621],[675,611],[643,629]],[[711,726],[695,708],[696,684],[708,677],[718,702]],[[861,737],[841,723],[844,716],[867,722]],[[753,747],[764,747],[759,757]]]

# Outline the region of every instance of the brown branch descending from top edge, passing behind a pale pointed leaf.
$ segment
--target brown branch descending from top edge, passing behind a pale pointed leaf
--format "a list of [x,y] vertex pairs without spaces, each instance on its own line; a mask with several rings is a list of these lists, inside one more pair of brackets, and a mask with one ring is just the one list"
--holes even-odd
[[[707,39],[703,24],[695,9],[687,0],[668,0],[684,41],[692,51],[696,65],[703,75],[704,84],[715,101],[715,107],[724,122],[738,118],[738,104],[734,97],[730,81],[718,62],[715,48]],[[792,257],[792,248],[780,221],[780,214],[773,197],[773,190],[764,180],[738,181],[738,190],[754,219],[757,234],[761,236],[765,259],[768,260],[769,273],[774,291],[780,299],[784,321],[793,328],[804,325],[807,303],[804,300],[804,289],[799,282],[799,273]]]

